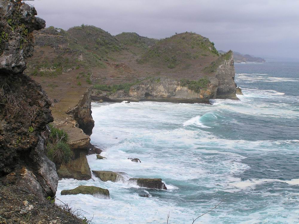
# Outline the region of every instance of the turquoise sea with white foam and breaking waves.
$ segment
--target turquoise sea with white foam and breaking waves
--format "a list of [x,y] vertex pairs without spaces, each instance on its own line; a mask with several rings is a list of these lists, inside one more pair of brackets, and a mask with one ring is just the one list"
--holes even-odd
[[[92,103],[92,170],[126,172],[125,181],[63,179],[57,196],[93,223],[299,223],[299,65],[235,64],[240,101],[212,105]],[[139,158],[134,163],[127,158]],[[130,185],[162,178],[168,190]],[[60,196],[81,184],[111,199]],[[139,194],[148,193],[149,198]]]

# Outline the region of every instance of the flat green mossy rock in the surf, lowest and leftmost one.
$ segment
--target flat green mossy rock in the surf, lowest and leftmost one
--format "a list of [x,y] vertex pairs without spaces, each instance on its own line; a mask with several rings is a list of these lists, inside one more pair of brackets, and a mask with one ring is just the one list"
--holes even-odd
[[94,186],[80,185],[72,190],[62,190],[61,195],[69,194],[90,194],[90,195],[103,195],[109,198],[109,190]]

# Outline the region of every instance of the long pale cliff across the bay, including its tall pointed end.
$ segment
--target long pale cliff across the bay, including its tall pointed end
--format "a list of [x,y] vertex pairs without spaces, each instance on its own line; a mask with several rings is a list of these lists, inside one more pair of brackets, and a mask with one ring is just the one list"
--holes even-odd
[[[234,81],[234,59],[232,52],[220,56],[205,68],[210,74],[196,81],[168,77],[146,78],[129,89],[115,93],[94,90],[92,99],[121,102],[159,101],[183,103],[209,103],[209,99],[238,99]],[[115,87],[116,88],[116,87]],[[113,87],[111,88],[113,90]]]

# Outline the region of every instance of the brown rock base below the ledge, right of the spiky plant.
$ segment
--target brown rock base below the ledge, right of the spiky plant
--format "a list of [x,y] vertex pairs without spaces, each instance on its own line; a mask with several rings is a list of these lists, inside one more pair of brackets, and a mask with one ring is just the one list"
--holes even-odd
[[74,160],[69,164],[61,165],[57,169],[57,174],[60,178],[74,178],[77,180],[91,179],[86,152],[82,150],[74,150]]

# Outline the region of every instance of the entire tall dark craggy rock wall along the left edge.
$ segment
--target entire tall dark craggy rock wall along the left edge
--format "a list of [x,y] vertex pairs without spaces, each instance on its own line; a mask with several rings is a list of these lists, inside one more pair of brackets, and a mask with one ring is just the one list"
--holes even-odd
[[54,196],[58,176],[45,155],[46,125],[53,121],[51,102],[38,83],[22,74],[33,50],[29,34],[45,26],[35,15],[27,4],[0,3],[0,184]]

